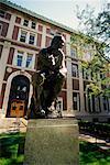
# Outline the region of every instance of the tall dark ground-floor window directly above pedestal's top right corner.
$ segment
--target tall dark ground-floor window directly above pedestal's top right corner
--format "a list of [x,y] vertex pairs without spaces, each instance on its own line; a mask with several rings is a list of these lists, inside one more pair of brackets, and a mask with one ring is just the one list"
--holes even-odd
[[80,110],[79,107],[79,94],[78,92],[73,92],[73,109],[74,110]]

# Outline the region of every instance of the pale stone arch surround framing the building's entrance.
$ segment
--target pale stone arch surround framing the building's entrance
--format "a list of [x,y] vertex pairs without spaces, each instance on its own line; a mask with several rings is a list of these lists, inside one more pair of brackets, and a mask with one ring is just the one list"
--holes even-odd
[[[6,92],[4,92],[4,99],[3,99],[3,106],[2,106],[2,117],[4,118],[6,114],[7,114],[7,109],[8,109],[8,101],[9,101],[9,95],[10,95],[10,88],[11,88],[11,82],[12,82],[12,79],[18,76],[18,75],[23,75],[23,76],[26,76],[31,82],[31,75],[26,72],[15,72],[15,73],[12,73],[9,78],[8,78],[8,81],[7,81],[7,87],[6,87]],[[30,106],[30,102],[31,102],[31,97],[32,97],[32,92],[33,92],[33,87],[32,85],[30,84],[30,91],[29,91],[29,103],[28,103],[28,107]]]

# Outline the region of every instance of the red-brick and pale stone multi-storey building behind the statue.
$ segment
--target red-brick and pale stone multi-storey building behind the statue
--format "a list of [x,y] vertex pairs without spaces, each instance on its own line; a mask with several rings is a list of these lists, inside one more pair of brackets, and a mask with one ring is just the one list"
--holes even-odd
[[[107,98],[86,96],[86,85],[91,80],[81,72],[77,45],[70,46],[76,33],[63,24],[41,16],[7,0],[0,2],[0,118],[23,117],[30,106],[33,88],[31,76],[35,73],[37,54],[50,45],[55,34],[63,34],[66,44],[67,79],[58,96],[63,113],[78,119],[110,120],[110,102]],[[92,54],[91,45],[84,47],[86,57]]]

